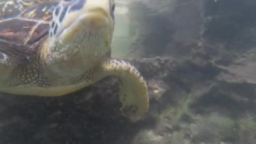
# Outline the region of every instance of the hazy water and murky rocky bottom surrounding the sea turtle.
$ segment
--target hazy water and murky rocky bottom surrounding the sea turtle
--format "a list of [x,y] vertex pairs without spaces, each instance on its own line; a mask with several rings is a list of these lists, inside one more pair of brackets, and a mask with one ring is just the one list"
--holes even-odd
[[255,0],[116,0],[112,57],[139,69],[149,112],[117,80],[62,97],[0,94],[0,144],[256,144]]

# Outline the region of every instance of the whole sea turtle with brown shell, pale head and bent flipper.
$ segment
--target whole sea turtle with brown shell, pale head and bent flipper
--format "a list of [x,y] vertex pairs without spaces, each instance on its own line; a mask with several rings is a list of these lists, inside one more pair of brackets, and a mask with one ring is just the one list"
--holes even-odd
[[0,0],[0,10],[1,92],[62,96],[114,75],[122,114],[147,112],[146,81],[111,58],[114,0]]

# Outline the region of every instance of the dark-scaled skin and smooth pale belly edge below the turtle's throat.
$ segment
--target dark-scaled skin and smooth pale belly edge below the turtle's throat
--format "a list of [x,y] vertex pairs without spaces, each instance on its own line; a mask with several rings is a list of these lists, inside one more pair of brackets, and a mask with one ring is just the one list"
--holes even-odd
[[5,86],[1,83],[0,91],[31,96],[62,96],[91,85],[99,78],[95,76],[95,70],[90,69],[79,77],[59,83],[45,77],[39,63],[29,63],[14,69],[11,77],[4,83]]

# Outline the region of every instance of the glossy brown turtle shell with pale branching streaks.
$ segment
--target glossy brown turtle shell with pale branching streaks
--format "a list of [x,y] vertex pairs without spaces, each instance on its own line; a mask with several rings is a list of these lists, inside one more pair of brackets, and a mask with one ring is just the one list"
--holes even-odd
[[37,61],[60,0],[0,0],[0,54],[16,64]]

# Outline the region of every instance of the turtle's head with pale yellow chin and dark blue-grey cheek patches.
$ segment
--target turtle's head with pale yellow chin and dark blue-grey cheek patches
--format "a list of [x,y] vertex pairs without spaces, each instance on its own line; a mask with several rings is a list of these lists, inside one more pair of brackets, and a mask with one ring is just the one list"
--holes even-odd
[[53,10],[43,61],[58,65],[75,61],[69,65],[76,67],[105,56],[112,42],[114,11],[114,0],[62,0]]

